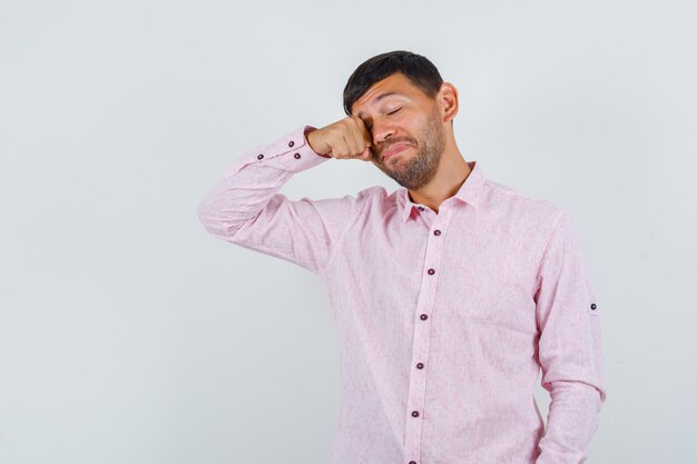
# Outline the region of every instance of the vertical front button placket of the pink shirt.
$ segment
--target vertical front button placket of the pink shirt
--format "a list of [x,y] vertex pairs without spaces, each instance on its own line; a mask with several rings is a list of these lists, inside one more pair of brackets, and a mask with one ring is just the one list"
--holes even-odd
[[[422,207],[419,207],[423,210]],[[424,368],[429,362],[431,348],[431,322],[430,314],[433,313],[435,300],[435,288],[438,284],[440,264],[443,256],[443,231],[450,223],[450,214],[446,210],[434,218],[431,225],[432,233],[429,234],[426,251],[424,257],[424,273],[422,276],[421,292],[418,300],[418,312],[414,317],[414,337],[412,344],[412,372],[409,382],[409,416],[405,428],[404,451],[406,460],[421,458],[421,436],[423,421],[425,419],[425,385],[428,369]],[[415,461],[411,461],[415,462]]]

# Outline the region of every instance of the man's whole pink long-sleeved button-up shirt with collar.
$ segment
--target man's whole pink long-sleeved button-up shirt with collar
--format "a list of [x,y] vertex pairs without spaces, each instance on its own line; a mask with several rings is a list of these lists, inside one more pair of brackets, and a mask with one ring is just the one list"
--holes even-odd
[[326,285],[343,379],[331,464],[585,462],[606,397],[602,308],[569,215],[478,161],[438,214],[381,186],[291,200],[281,187],[331,159],[312,129],[243,154],[198,217]]

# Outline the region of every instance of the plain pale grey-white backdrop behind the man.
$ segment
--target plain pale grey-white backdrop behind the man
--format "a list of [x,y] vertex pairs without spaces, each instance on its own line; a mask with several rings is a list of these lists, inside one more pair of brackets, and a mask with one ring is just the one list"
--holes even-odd
[[[351,72],[395,49],[458,88],[467,160],[577,226],[608,389],[588,462],[697,462],[696,19],[691,1],[2,0],[0,463],[326,462],[320,278],[215,239],[196,208],[243,151],[343,118]],[[281,191],[373,185],[399,187],[330,160]]]

